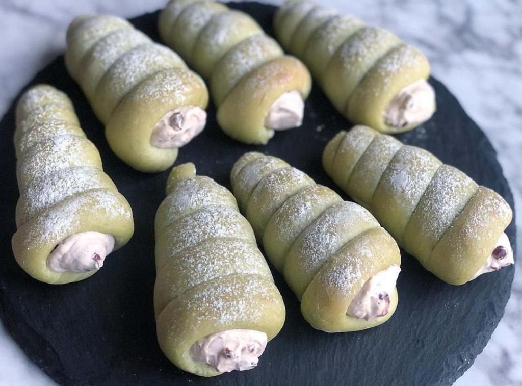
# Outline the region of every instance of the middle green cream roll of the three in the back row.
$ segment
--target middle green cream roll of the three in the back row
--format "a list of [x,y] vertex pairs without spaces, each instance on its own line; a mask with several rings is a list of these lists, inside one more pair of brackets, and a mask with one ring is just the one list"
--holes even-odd
[[310,74],[250,16],[221,3],[171,0],[158,27],[208,81],[218,124],[229,136],[265,145],[274,131],[301,126]]

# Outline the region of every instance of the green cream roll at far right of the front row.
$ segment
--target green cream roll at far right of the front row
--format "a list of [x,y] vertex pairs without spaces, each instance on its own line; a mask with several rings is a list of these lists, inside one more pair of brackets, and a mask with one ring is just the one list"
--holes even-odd
[[509,205],[428,151],[355,126],[328,143],[323,165],[402,248],[446,283],[464,284],[514,263],[503,233],[512,218]]

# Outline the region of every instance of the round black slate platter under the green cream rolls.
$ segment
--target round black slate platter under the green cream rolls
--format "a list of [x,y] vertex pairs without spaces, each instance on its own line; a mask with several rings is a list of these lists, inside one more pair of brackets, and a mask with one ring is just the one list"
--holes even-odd
[[[254,16],[271,33],[275,8],[257,3],[231,4]],[[158,13],[131,20],[159,40]],[[14,106],[0,123],[2,191],[0,200],[0,316],[27,355],[60,384],[449,384],[473,363],[504,312],[514,267],[487,274],[464,286],[445,284],[402,253],[395,315],[374,329],[327,334],[301,316],[299,302],[274,272],[287,308],[280,334],[271,341],[256,369],[217,378],[200,378],[177,369],[156,341],[152,309],[155,280],[153,219],[164,198],[168,172],[144,174],[112,153],[103,127],[65,71],[63,57],[39,73],[31,85],[49,83],[68,93],[81,126],[100,150],[103,167],[134,210],[132,240],[110,255],[102,270],[79,283],[53,286],[30,278],[15,262],[10,238],[16,231],[18,191]],[[495,151],[457,100],[435,79],[438,111],[417,130],[399,135],[404,143],[432,151],[479,184],[499,192],[513,208],[513,197]],[[29,86],[29,85],[28,85]],[[232,141],[219,130],[215,108],[203,134],[180,150],[176,164],[192,161],[198,173],[229,186],[229,173],[246,151],[275,155],[309,173],[318,183],[339,190],[321,167],[326,142],[349,123],[314,85],[301,128],[276,133],[265,147]],[[346,195],[339,192],[341,195]],[[507,229],[515,247],[515,221]]]

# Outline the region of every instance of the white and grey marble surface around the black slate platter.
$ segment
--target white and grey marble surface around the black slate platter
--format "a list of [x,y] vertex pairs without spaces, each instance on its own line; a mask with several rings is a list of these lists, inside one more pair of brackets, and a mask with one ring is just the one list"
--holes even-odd
[[[85,12],[137,16],[167,0],[1,0],[0,115],[19,89],[65,47],[65,30]],[[280,3],[273,1],[272,3]],[[514,0],[326,0],[419,46],[432,73],[457,96],[499,152],[522,229],[522,5]],[[517,244],[522,246],[522,232]],[[520,254],[518,254],[520,255]],[[520,264],[517,264],[518,267]],[[484,352],[455,384],[522,385],[522,272]],[[0,324],[0,385],[49,385]]]

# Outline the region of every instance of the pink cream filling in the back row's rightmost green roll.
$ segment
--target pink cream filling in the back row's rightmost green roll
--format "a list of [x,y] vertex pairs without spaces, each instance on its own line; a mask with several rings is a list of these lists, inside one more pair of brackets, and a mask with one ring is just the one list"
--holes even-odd
[[435,112],[435,91],[424,79],[406,86],[389,102],[384,121],[393,127],[420,125]]

